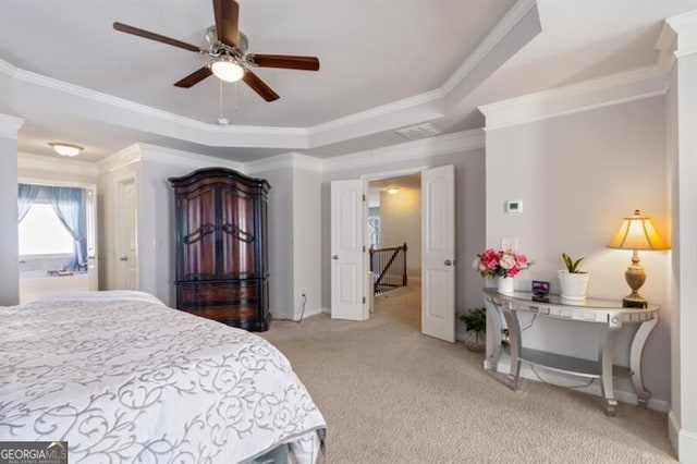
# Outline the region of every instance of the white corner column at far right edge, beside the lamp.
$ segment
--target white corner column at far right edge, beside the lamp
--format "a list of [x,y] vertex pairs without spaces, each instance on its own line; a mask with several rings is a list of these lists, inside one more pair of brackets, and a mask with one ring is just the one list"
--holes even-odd
[[[665,105],[672,216],[671,412],[669,436],[680,462],[697,462],[697,11],[665,21],[670,65]],[[659,39],[661,48],[661,39]]]

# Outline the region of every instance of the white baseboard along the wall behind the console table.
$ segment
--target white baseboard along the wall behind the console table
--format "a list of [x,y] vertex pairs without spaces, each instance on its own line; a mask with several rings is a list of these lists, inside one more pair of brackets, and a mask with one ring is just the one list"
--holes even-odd
[[[489,364],[489,361],[485,359],[484,368],[488,369],[488,370],[491,370],[490,367],[491,367],[491,365]],[[557,384],[559,387],[571,386],[571,384],[579,384],[579,383],[584,383],[584,381],[586,381],[586,379],[583,379],[580,377],[564,376],[564,375],[561,375],[561,374],[553,373],[551,370],[545,369],[543,367],[539,367],[536,370],[538,371],[538,374],[540,374],[540,376],[546,381],[548,381],[549,383],[552,383],[552,384]],[[510,371],[511,370],[510,370],[509,359],[505,358],[504,356],[501,356],[501,359],[499,359],[499,364],[497,366],[497,373],[509,374]],[[535,380],[535,381],[538,381],[538,382],[540,381],[540,379],[535,375],[535,371],[526,363],[523,363],[522,366],[521,366],[521,377],[523,377],[525,379],[528,379],[528,380]],[[592,394],[594,396],[602,398],[602,392],[600,390],[600,383],[598,381],[594,381],[588,387],[574,388],[573,390],[574,391],[580,391],[580,392],[588,393],[588,394]],[[615,389],[614,390],[614,394],[615,394],[616,400],[622,402],[622,403],[634,404],[634,405],[639,404],[638,396],[636,395],[636,393],[634,391],[625,391],[625,390]],[[670,404],[668,403],[668,401],[656,399],[656,398],[649,399],[647,407],[649,410],[659,411],[661,413],[668,413],[670,411]]]

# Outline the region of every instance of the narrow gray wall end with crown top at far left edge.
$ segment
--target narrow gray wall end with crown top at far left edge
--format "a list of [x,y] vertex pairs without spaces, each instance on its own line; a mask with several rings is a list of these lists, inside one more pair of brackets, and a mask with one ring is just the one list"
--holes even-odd
[[22,118],[0,114],[0,306],[20,303],[17,133]]

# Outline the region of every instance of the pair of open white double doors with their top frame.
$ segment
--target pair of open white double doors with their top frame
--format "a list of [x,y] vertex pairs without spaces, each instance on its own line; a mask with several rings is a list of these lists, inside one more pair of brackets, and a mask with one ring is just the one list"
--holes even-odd
[[[369,182],[420,172],[421,333],[455,341],[455,169],[453,164],[331,182],[331,317],[367,320]],[[381,218],[381,228],[384,228]],[[382,240],[382,239],[381,239]]]

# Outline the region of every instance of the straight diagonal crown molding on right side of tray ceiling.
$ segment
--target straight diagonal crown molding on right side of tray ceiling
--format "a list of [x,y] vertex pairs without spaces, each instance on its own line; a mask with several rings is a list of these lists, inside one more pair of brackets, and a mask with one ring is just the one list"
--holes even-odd
[[493,29],[487,34],[484,40],[477,45],[475,50],[443,83],[440,87],[440,91],[443,96],[450,94],[457,84],[463,82],[536,5],[537,0],[516,1],[501,21],[499,21],[499,23],[493,27]]

